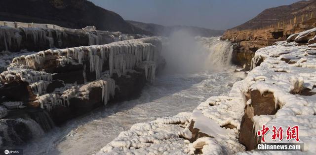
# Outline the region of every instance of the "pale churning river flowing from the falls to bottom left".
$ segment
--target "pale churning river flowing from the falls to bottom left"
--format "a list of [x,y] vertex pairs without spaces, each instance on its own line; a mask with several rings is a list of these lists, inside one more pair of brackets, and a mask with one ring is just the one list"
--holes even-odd
[[[190,112],[210,96],[228,94],[231,84],[240,79],[232,71],[229,63],[225,62],[231,57],[231,45],[224,41],[217,41],[216,38],[206,39],[206,41],[204,39],[202,44],[207,45],[207,50],[204,48],[200,51],[202,55],[200,58],[191,59],[191,56],[175,58],[179,56],[177,52],[172,54],[173,57],[165,56],[170,66],[167,66],[166,71],[156,77],[154,84],[145,86],[138,99],[93,110],[61,127],[55,127],[41,138],[34,139],[24,146],[25,155],[91,155],[135,123],[152,121],[160,117],[176,115],[179,112]],[[192,48],[191,45],[188,48],[181,47],[181,50],[196,51],[190,48]],[[168,50],[177,51],[178,49],[171,47]],[[220,52],[223,54],[219,54]],[[211,65],[211,69],[191,68],[197,63],[196,60],[207,66]],[[185,66],[189,68],[188,72],[184,72],[183,69],[174,71],[176,68],[172,68],[179,67],[179,65],[172,66],[172,63],[181,61],[192,63]],[[226,64],[227,66],[223,66]]]

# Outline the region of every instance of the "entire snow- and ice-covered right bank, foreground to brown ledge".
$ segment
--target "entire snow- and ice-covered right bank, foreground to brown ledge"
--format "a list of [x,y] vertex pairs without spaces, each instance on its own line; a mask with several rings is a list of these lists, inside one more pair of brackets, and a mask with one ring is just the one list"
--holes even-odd
[[[302,33],[306,34],[306,33]],[[297,35],[301,37],[303,35]],[[301,40],[301,39],[299,39]],[[264,60],[255,67],[256,60]],[[98,155],[169,155],[169,154],[316,154],[316,48],[285,41],[259,49],[247,77],[234,84],[227,96],[213,96],[201,102],[192,113],[179,113],[156,121],[134,124],[100,150]],[[255,131],[267,126],[299,126],[300,151],[245,151],[238,143],[244,107],[249,91],[273,93],[275,115],[253,118]],[[203,134],[197,137],[196,131]],[[191,130],[191,131],[190,131]],[[255,135],[254,135],[255,136]],[[276,143],[266,135],[265,143]],[[286,133],[283,133],[286,139]],[[189,141],[190,140],[190,141]],[[283,140],[277,143],[295,143]]]

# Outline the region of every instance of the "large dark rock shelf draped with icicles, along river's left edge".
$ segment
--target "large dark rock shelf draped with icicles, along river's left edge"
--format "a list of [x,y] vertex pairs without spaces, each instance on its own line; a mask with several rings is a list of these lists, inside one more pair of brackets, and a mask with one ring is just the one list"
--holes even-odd
[[[21,144],[38,130],[48,131],[108,102],[137,97],[162,66],[161,46],[150,37],[14,58],[0,74],[0,117],[8,126],[0,129],[0,144]],[[25,120],[39,124],[37,131]],[[8,133],[10,127],[17,138]],[[32,131],[21,137],[24,128]]]

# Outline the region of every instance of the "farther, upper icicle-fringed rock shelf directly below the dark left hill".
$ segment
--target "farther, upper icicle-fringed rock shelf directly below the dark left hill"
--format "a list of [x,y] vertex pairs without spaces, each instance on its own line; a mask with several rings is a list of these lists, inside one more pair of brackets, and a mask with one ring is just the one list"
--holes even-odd
[[68,29],[54,25],[4,22],[0,26],[0,51],[42,51],[50,48],[67,48],[108,44],[115,41],[140,38],[121,32],[97,31],[95,27]]

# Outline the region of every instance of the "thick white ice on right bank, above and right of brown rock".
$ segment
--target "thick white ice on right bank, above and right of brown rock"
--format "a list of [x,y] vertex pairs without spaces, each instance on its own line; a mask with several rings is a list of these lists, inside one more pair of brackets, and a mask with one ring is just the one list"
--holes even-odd
[[[241,87],[243,93],[249,90],[273,93],[276,105],[280,107],[275,115],[254,117],[255,130],[260,129],[263,124],[283,128],[288,125],[298,125],[300,143],[304,143],[304,152],[309,154],[316,153],[316,149],[311,147],[316,145],[314,132],[316,128],[314,125],[316,121],[315,53],[316,48],[284,41],[259,49],[253,59],[262,57],[264,61],[249,72]],[[268,133],[266,137],[271,134]],[[266,140],[266,143],[273,142],[270,138]],[[283,140],[282,143],[295,142]],[[265,153],[273,154],[272,152]]]

